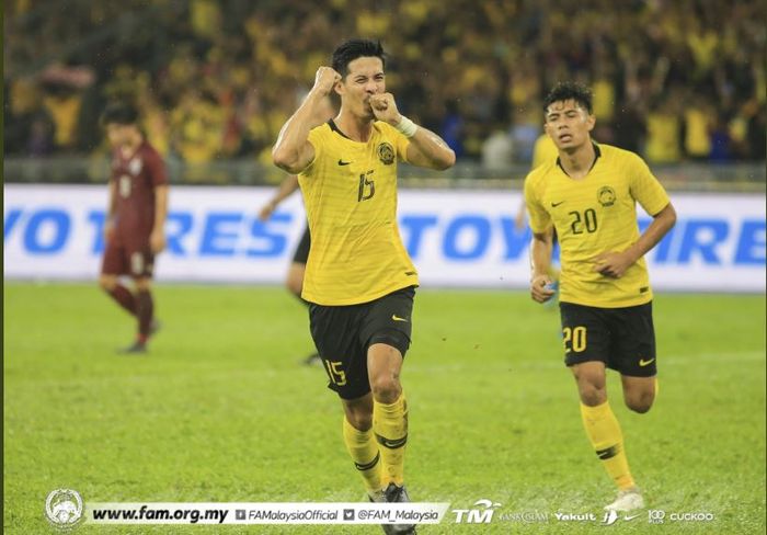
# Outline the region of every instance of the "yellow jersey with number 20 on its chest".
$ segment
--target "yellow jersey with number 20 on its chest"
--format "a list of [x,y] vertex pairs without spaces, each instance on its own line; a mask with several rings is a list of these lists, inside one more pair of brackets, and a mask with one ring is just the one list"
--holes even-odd
[[595,258],[637,242],[637,202],[654,216],[668,205],[668,195],[639,156],[609,145],[594,147],[597,159],[581,180],[568,177],[559,160],[527,175],[530,228],[543,232],[553,225],[557,230],[561,301],[603,308],[642,305],[652,299],[644,259],[613,278],[594,271]]

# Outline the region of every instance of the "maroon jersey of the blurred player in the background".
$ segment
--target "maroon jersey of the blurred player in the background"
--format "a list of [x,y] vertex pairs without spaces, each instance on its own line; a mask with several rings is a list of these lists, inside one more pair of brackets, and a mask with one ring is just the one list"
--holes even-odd
[[115,232],[123,241],[146,241],[154,225],[154,187],[168,184],[162,157],[146,140],[125,157],[112,156],[115,192]]

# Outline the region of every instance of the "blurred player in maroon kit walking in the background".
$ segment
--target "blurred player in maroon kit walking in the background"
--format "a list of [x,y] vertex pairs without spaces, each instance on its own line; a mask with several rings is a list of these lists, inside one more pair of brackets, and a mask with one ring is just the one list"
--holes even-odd
[[[121,352],[145,353],[149,335],[158,327],[151,278],[154,255],[165,248],[168,177],[162,157],[138,126],[135,107],[111,104],[102,124],[114,151],[99,284],[138,320],[136,341]],[[135,293],[121,284],[122,275],[134,280]]]

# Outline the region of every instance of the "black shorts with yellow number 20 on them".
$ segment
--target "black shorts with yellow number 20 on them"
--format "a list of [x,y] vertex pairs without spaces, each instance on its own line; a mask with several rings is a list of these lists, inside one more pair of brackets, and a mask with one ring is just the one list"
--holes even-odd
[[652,303],[625,308],[560,303],[559,309],[568,366],[600,361],[631,377],[657,373]]

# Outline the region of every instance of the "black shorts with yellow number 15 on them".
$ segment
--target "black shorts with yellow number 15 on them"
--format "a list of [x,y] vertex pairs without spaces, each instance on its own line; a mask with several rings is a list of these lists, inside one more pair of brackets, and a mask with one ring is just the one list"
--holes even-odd
[[309,305],[309,327],[330,382],[342,399],[370,391],[367,349],[374,343],[410,348],[415,287],[398,289],[370,303],[348,306]]

